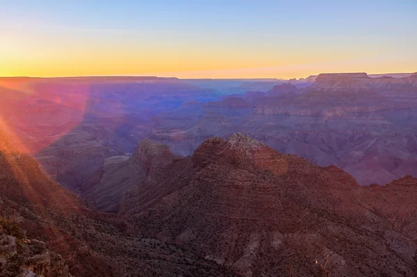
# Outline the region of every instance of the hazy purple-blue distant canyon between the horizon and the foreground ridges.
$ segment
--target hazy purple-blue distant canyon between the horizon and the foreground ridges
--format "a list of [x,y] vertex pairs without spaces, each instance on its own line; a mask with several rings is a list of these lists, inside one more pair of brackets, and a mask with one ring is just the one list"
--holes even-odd
[[416,74],[300,80],[1,78],[1,125],[55,181],[81,193],[104,160],[145,138],[189,156],[243,132],[283,153],[341,167],[361,185],[417,168]]

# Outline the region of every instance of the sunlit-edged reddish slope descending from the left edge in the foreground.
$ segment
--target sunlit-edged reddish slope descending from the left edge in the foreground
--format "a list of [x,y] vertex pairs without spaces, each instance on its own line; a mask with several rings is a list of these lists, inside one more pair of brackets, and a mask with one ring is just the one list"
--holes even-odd
[[[235,276],[175,244],[143,237],[125,219],[92,210],[1,132],[0,138],[0,276]],[[149,159],[158,149],[166,147],[144,146],[134,158],[152,172],[164,162]]]

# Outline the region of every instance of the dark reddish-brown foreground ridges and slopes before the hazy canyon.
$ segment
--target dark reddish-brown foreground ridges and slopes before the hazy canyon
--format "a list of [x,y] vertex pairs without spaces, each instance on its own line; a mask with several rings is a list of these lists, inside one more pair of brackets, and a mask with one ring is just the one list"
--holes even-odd
[[[361,186],[334,165],[279,153],[241,133],[210,137],[184,158],[142,140],[132,156],[104,162],[100,178],[85,183],[87,192],[117,196],[97,198],[109,213],[42,174],[7,135],[0,138],[0,256],[8,257],[0,270],[287,276],[288,266],[293,276],[322,276],[315,261],[328,255],[331,276],[416,276],[412,176]],[[116,176],[140,178],[127,186]],[[113,187],[119,183],[122,192]],[[23,248],[13,250],[18,240]]]

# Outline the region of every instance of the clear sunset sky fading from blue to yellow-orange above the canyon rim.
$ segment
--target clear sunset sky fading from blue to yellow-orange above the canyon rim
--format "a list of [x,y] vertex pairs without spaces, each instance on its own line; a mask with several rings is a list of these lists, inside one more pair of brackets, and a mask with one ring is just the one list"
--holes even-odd
[[416,14],[416,0],[0,0],[0,76],[417,72]]

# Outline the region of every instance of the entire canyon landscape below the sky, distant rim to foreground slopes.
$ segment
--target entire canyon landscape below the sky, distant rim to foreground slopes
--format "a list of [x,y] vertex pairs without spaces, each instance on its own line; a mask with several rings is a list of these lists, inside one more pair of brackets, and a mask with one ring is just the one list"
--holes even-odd
[[3,275],[415,276],[417,74],[0,94]]

